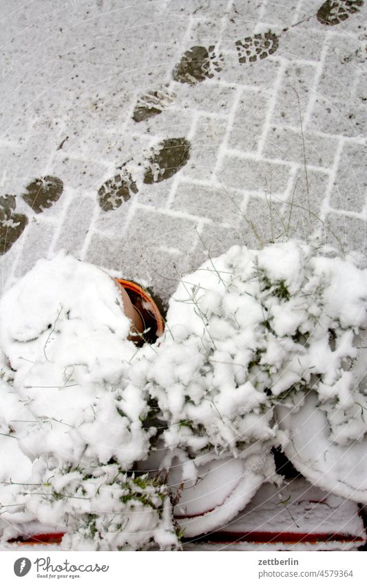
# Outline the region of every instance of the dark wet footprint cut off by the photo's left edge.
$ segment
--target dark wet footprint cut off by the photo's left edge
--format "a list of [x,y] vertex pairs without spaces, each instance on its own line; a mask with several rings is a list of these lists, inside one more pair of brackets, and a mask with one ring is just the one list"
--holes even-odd
[[4,195],[0,197],[0,254],[6,254],[12,245],[20,238],[28,224],[27,216],[16,214],[15,197]]

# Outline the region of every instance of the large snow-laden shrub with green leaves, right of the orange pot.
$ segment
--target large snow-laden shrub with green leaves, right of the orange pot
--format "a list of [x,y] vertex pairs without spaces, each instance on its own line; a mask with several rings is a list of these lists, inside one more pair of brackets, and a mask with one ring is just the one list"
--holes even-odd
[[366,327],[367,274],[291,240],[232,247],[182,278],[165,336],[129,378],[163,422],[161,446],[200,462],[278,444],[274,407],[298,409],[317,392],[330,439],[361,439],[366,385],[353,374]]

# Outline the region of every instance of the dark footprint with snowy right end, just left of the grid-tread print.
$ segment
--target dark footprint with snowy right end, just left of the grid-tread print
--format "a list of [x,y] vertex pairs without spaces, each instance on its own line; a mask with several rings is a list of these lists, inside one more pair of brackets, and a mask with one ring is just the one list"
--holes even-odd
[[191,47],[176,65],[172,76],[174,81],[195,85],[199,81],[211,79],[216,72],[222,71],[223,56],[217,54],[215,46]]

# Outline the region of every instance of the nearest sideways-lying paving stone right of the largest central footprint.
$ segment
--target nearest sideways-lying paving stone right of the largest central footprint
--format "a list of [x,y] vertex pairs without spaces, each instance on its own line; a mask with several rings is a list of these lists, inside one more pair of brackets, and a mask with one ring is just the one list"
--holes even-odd
[[288,184],[289,167],[251,158],[225,156],[218,171],[218,178],[224,187],[242,187],[282,195]]

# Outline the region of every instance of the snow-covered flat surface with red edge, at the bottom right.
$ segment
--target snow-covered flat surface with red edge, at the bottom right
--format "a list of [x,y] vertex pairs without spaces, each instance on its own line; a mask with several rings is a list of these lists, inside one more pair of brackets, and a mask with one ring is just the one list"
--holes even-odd
[[[310,536],[306,542],[297,543],[297,534]],[[312,535],[317,534],[326,537],[313,542]],[[282,486],[269,482],[262,485],[233,520],[218,526],[201,542],[185,543],[184,550],[347,551],[365,542],[366,533],[355,502],[297,478]]]

